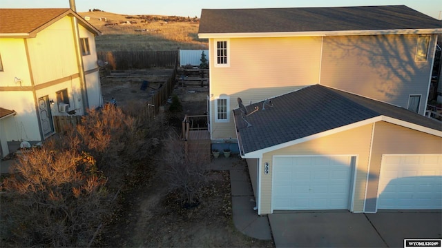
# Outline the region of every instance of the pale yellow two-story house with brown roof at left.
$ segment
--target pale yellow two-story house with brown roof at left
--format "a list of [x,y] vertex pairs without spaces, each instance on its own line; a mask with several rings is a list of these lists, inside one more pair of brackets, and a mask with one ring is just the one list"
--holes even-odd
[[102,106],[100,32],[70,9],[0,9],[1,157],[11,142],[43,141],[53,116]]

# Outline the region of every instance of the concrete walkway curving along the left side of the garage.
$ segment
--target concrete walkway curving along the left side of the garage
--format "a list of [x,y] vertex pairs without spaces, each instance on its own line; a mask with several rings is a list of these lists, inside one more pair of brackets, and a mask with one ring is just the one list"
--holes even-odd
[[249,170],[236,156],[213,159],[211,169],[229,170],[232,196],[233,223],[243,234],[260,240],[271,240],[269,218],[258,216],[255,196],[251,188]]

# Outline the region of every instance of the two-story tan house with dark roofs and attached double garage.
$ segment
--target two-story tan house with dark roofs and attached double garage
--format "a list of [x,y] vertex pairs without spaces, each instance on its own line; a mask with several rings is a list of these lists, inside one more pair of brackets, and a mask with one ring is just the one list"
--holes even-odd
[[406,6],[202,10],[211,140],[238,143],[258,214],[442,209],[441,32]]

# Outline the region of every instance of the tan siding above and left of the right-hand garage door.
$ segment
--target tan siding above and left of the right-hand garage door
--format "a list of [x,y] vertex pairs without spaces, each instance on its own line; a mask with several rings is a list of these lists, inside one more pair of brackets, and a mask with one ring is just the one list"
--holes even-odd
[[376,210],[378,178],[383,154],[441,154],[442,138],[406,127],[378,122],[374,127],[365,211]]

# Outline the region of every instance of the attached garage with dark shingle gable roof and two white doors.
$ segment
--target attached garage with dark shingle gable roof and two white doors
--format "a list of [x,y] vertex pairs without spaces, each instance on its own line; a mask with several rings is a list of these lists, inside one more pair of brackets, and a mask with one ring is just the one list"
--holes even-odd
[[271,102],[247,116],[251,125],[234,110],[241,156],[253,161],[257,214],[442,209],[441,123],[322,85]]

